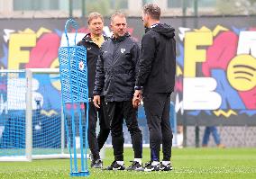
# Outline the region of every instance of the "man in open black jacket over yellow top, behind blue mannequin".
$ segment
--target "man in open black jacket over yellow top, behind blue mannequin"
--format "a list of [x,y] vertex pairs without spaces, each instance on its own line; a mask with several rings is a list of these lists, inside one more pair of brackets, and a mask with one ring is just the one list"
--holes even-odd
[[[88,143],[91,150],[91,166],[95,168],[101,168],[103,166],[102,160],[99,156],[99,151],[103,148],[105,141],[109,135],[110,127],[109,121],[106,119],[104,113],[104,107],[102,103],[101,108],[96,108],[93,100],[93,90],[96,77],[96,61],[100,53],[100,47],[107,38],[102,34],[104,26],[104,20],[100,13],[90,13],[88,15],[88,33],[83,40],[78,42],[78,45],[87,48],[87,69],[88,69],[88,94],[89,100],[89,120],[88,120]],[[101,96],[101,100],[104,101],[104,97]],[[97,112],[99,118],[100,131],[96,138],[96,121]]]

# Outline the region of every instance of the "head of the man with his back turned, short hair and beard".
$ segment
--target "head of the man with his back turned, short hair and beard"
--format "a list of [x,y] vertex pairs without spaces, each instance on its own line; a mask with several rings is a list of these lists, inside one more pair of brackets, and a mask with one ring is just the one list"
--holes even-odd
[[160,7],[157,4],[145,4],[142,11],[144,27],[150,28],[152,23],[160,22]]

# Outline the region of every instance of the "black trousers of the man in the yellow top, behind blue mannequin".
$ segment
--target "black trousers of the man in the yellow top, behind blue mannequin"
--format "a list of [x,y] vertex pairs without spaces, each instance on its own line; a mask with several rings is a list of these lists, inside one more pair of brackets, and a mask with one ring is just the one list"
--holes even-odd
[[[97,114],[99,119],[100,130],[96,137],[96,121]],[[93,102],[89,103],[89,118],[88,118],[88,144],[94,160],[99,159],[99,151],[103,148],[106,139],[110,133],[110,124],[105,115],[105,101],[101,97],[100,108],[96,108]]]

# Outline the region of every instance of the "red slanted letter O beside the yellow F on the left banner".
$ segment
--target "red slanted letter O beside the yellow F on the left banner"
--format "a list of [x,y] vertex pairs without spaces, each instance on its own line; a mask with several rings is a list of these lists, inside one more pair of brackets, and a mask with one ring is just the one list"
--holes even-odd
[[26,67],[50,67],[52,61],[58,57],[60,38],[56,33],[45,33],[31,50],[30,61]]

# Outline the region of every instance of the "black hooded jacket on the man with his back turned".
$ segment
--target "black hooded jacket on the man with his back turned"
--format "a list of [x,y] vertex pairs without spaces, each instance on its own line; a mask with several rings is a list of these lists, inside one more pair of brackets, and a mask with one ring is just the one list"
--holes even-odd
[[171,93],[175,85],[176,41],[174,29],[155,24],[142,37],[142,51],[136,86],[143,94]]

